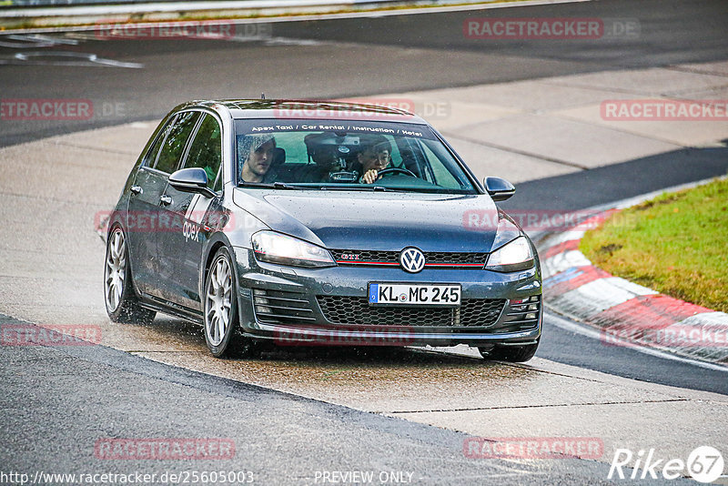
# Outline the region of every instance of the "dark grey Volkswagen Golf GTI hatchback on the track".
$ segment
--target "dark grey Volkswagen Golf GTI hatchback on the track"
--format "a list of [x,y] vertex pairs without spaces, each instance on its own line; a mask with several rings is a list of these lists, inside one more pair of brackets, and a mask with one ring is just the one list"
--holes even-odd
[[177,106],[109,220],[115,321],[204,326],[219,357],[286,345],[450,346],[531,359],[541,270],[521,228],[419,116],[338,102]]

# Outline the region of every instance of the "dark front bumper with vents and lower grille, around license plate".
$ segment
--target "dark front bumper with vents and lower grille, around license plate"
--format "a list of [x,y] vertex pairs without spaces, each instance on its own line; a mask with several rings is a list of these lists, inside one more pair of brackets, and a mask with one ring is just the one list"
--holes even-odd
[[[258,262],[247,248],[235,254],[239,324],[248,337],[290,346],[480,346],[531,344],[541,336],[538,265],[513,273],[426,268],[410,274],[399,267],[290,268]],[[372,309],[369,282],[460,283],[462,305]]]

